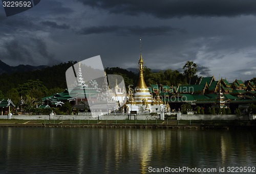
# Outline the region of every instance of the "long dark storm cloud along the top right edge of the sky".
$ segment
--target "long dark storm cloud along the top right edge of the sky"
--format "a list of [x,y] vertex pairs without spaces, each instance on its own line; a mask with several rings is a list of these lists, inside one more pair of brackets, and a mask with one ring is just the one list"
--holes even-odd
[[151,14],[159,18],[182,16],[239,16],[255,15],[256,1],[244,0],[77,0],[93,8],[114,14]]

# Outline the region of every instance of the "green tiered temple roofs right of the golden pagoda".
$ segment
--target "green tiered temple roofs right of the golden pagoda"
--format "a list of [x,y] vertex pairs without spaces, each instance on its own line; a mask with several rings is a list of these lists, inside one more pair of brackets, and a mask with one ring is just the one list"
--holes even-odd
[[[165,90],[161,90],[161,87]],[[250,81],[246,85],[241,80],[229,83],[226,79],[216,81],[212,76],[201,78],[196,85],[179,85],[177,90],[166,85],[160,86],[160,89],[158,85],[151,85],[150,88],[155,88],[151,93],[159,93],[162,101],[170,103],[170,106],[172,103],[219,106],[221,93],[227,105],[256,103],[256,86]]]

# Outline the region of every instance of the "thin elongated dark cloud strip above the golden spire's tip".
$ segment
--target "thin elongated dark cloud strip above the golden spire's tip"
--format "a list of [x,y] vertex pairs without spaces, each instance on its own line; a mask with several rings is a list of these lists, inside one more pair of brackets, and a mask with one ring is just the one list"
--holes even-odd
[[89,34],[105,34],[105,33],[115,33],[116,35],[169,35],[173,32],[185,31],[178,28],[172,28],[169,26],[160,27],[140,27],[140,26],[99,26],[99,27],[86,27],[78,31],[77,33],[83,35]]

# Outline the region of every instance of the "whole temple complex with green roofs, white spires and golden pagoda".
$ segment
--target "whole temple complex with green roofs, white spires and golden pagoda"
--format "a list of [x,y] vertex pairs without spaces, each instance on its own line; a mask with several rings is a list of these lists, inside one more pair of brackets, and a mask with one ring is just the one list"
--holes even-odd
[[[143,64],[140,39],[138,78],[135,87],[132,89],[129,86],[126,94],[124,83],[121,85],[123,78],[118,79],[114,74],[107,76],[104,72],[103,79],[84,82],[82,77],[84,74],[79,63],[74,89],[42,98],[39,108],[61,107],[65,102],[69,102],[73,108],[89,109],[89,106],[92,106],[95,107],[94,111],[130,114],[132,111],[133,113],[178,111],[183,104],[189,104],[193,109],[230,108],[234,113],[236,109],[245,110],[249,104],[256,104],[256,85],[253,82],[244,83],[242,80],[235,80],[229,83],[226,79],[215,80],[212,76],[201,77],[193,85],[149,84],[147,86]],[[112,83],[109,84],[108,81]],[[88,98],[92,101],[91,105],[88,104]]]

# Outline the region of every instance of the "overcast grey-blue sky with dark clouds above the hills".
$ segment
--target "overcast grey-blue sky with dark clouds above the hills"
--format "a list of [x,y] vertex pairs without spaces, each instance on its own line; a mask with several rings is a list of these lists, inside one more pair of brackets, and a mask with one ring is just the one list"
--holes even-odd
[[0,59],[54,65],[100,55],[103,66],[180,69],[243,81],[256,77],[255,0],[42,0],[6,17],[0,7]]

